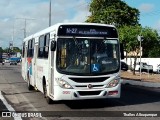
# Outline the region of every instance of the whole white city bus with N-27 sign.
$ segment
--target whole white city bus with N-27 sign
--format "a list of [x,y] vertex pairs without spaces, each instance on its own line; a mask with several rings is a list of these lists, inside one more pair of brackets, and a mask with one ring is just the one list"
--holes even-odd
[[22,77],[49,104],[119,98],[121,54],[113,25],[58,23],[23,40]]

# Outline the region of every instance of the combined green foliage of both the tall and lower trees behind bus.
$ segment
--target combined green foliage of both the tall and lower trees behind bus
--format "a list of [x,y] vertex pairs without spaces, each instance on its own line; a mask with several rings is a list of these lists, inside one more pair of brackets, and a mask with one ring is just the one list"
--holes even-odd
[[[121,43],[126,53],[132,52],[134,64],[140,53],[140,41],[137,36],[142,35],[142,57],[160,57],[160,38],[156,30],[139,25],[140,12],[121,0],[92,0],[90,4],[91,15],[86,22],[114,24],[119,31]],[[133,54],[134,51],[134,54]],[[127,56],[126,56],[127,57]],[[135,66],[133,69],[135,74]]]

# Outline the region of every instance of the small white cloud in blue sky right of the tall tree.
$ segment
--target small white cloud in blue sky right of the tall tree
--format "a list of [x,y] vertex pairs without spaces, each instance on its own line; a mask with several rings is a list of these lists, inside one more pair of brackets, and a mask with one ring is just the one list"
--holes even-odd
[[148,13],[153,11],[154,7],[155,7],[154,4],[143,3],[139,6],[139,10],[141,12]]

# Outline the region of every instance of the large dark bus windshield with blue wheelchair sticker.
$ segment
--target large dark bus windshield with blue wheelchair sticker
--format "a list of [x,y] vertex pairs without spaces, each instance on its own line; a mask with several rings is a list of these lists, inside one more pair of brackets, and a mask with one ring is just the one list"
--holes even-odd
[[109,74],[120,68],[118,39],[58,38],[57,70],[76,75]]

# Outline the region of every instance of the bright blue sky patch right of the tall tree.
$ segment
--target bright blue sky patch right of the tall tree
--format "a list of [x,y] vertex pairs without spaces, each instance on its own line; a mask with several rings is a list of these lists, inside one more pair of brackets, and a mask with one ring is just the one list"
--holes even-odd
[[123,0],[140,11],[140,24],[160,32],[160,0]]

